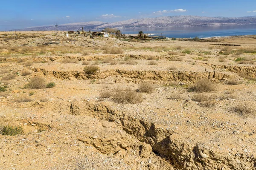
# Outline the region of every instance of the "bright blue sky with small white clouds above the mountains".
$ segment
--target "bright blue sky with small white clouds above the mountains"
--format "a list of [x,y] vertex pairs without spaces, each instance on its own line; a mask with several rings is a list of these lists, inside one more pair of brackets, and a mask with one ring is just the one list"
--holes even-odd
[[173,15],[256,15],[256,0],[3,0],[0,30]]

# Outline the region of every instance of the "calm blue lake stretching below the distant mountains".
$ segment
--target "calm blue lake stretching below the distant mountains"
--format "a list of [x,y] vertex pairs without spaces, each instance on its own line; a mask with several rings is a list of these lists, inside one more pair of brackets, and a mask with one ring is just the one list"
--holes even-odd
[[200,27],[174,27],[174,28],[125,28],[121,29],[123,34],[138,34],[143,31],[144,34],[152,36],[162,35],[175,38],[206,38],[206,37],[223,37],[233,35],[252,35],[256,34],[255,25],[241,26],[200,26]]

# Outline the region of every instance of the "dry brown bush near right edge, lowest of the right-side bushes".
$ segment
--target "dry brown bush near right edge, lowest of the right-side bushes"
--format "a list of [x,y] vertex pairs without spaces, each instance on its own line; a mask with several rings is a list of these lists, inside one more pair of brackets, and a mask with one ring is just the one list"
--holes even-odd
[[256,115],[256,108],[255,105],[251,103],[239,103],[235,107],[233,107],[233,111],[238,113],[240,116],[255,116]]

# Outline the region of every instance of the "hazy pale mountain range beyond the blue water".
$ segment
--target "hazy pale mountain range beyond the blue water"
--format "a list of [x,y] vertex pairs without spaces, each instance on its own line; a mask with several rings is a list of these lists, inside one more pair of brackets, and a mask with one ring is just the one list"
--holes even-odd
[[[119,21],[114,23],[104,23],[91,21],[87,23],[67,23],[58,25],[61,31],[76,31],[84,27],[88,30],[102,30],[104,28],[161,28],[161,27],[180,27],[180,26],[219,26],[219,25],[249,25],[256,24],[256,16],[250,17],[199,17],[199,16],[169,16],[157,18],[143,18]],[[38,26],[16,29],[19,31],[52,31],[54,26]]]

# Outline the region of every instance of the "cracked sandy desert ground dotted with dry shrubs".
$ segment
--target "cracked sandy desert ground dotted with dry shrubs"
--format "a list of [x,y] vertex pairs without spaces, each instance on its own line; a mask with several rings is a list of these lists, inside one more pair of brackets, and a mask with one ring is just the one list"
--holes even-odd
[[0,32],[1,170],[255,170],[256,36]]

